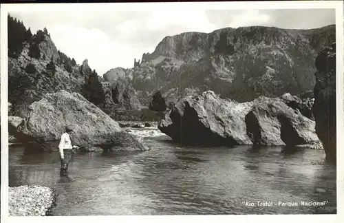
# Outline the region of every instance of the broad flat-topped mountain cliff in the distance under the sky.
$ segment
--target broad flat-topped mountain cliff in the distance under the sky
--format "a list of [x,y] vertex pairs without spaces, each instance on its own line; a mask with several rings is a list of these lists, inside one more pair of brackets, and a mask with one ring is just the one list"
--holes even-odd
[[[313,30],[224,28],[166,36],[125,76],[142,95],[160,89],[176,101],[211,89],[239,102],[259,96],[312,97],[317,52],[335,40],[335,26]],[[141,102],[148,105],[149,101]]]

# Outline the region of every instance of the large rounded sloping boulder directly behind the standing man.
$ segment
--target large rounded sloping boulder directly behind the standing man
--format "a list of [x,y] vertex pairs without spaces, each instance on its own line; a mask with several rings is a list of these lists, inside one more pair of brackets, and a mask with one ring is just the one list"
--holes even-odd
[[65,91],[46,94],[43,99],[32,103],[29,109],[30,114],[23,118],[17,131],[12,134],[30,149],[57,149],[66,125],[75,126],[72,140],[79,147],[149,149],[80,94]]

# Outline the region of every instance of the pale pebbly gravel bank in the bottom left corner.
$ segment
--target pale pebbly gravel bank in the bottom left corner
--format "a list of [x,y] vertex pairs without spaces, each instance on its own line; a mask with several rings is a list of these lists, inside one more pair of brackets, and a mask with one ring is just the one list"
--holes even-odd
[[55,203],[55,193],[49,187],[37,185],[9,187],[10,216],[45,216]]

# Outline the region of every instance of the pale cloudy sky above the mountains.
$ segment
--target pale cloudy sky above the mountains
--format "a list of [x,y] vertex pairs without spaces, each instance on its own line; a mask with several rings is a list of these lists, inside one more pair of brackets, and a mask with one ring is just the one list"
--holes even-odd
[[88,59],[89,66],[100,76],[111,68],[133,67],[135,58],[138,61],[143,53],[153,52],[165,36],[182,32],[213,32],[250,25],[311,29],[335,23],[333,9],[118,10],[116,4],[98,4],[68,8],[17,6],[9,13],[22,20],[32,33],[47,28],[58,50],[78,64]]

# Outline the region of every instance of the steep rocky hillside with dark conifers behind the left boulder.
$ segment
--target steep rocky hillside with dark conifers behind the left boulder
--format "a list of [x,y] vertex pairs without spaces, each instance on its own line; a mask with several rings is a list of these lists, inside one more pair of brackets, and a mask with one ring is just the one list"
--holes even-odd
[[13,111],[10,115],[25,116],[32,102],[61,90],[78,92],[98,107],[140,107],[131,85],[114,78],[110,81],[116,84],[111,87],[102,84],[87,59],[81,65],[76,64],[56,48],[46,29],[32,35],[30,28],[26,30],[21,21],[10,16],[8,24],[8,100]]

